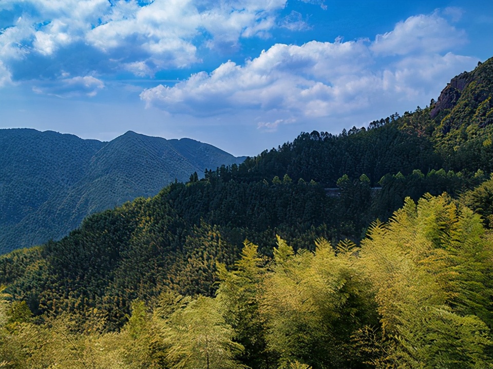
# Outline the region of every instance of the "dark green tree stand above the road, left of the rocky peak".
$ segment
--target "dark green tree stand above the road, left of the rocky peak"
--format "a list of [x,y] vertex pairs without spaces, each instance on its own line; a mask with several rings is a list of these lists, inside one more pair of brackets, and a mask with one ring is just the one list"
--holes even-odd
[[227,173],[226,179],[257,181],[287,174],[334,187],[344,174],[358,178],[365,173],[376,183],[387,173],[407,174],[413,169],[428,172],[439,168],[441,163],[442,158],[434,153],[428,137],[389,124],[378,129],[354,129],[349,135],[301,133],[292,143],[277,150],[247,158],[234,175]]

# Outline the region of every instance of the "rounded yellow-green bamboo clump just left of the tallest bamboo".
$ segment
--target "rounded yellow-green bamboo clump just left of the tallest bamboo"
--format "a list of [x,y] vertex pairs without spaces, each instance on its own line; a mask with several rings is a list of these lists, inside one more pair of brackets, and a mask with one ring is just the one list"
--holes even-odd
[[336,256],[330,244],[320,240],[315,254],[294,255],[279,241],[282,257],[275,258],[267,276],[263,310],[269,345],[281,362],[300,360],[314,368],[358,365],[351,335],[378,319],[364,273],[355,268],[353,252],[344,249]]

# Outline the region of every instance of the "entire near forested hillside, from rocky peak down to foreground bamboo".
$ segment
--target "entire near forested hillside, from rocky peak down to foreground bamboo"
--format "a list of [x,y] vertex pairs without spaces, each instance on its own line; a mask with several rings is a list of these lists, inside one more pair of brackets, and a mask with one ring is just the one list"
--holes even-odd
[[491,96],[493,59],[1,256],[0,366],[493,367]]

